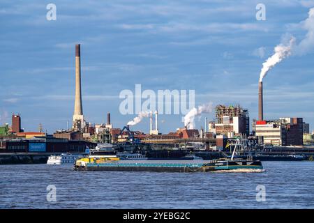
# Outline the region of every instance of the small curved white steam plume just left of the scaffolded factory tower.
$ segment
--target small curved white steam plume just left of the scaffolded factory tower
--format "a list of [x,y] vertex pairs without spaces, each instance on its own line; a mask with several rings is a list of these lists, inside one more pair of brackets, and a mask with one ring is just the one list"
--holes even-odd
[[200,105],[199,107],[190,110],[186,116],[184,116],[184,126],[188,130],[195,129],[195,117],[200,116],[203,113],[211,113],[213,111],[213,103],[210,102],[205,105]]

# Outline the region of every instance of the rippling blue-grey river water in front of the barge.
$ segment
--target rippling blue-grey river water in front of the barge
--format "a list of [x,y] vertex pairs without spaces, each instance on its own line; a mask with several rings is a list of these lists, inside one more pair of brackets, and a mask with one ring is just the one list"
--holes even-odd
[[[314,208],[314,162],[262,164],[262,173],[93,172],[73,171],[68,164],[1,165],[0,208]],[[56,190],[47,199],[48,185]],[[54,194],[56,201],[51,199]]]

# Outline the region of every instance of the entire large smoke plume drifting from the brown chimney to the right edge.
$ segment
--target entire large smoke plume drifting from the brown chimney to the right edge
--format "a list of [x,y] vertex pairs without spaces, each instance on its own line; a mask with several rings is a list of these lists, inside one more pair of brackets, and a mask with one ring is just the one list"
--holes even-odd
[[314,8],[311,8],[308,12],[308,18],[300,22],[301,27],[307,31],[306,36],[300,41],[298,45],[295,44],[295,38],[292,36],[288,44],[281,43],[274,49],[275,53],[267,61],[263,63],[262,70],[260,72],[260,82],[267,75],[267,72],[274,68],[277,63],[280,63],[287,56],[291,54],[303,55],[308,53],[314,48]]

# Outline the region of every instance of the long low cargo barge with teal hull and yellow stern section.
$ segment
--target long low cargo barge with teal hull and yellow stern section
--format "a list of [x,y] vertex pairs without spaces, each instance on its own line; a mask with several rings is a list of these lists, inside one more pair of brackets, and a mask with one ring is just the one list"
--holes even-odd
[[248,160],[77,160],[75,170],[82,171],[161,171],[209,172],[234,169],[263,169],[260,161]]

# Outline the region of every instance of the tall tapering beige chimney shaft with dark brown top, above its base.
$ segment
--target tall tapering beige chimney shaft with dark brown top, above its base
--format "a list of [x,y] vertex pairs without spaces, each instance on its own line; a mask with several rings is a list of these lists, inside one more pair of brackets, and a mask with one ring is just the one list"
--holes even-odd
[[81,52],[80,44],[75,45],[75,105],[74,115],[82,115],[82,92],[81,92]]

